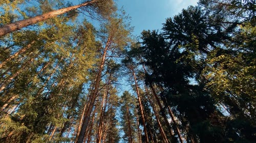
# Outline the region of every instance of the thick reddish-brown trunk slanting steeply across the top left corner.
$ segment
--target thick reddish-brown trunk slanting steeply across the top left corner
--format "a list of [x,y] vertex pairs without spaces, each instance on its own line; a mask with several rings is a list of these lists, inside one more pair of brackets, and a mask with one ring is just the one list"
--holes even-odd
[[42,14],[42,15],[39,15],[39,16],[35,16],[35,17],[28,18],[28,19],[20,20],[20,21],[14,22],[14,23],[6,24],[6,25],[0,27],[0,37],[6,35],[8,33],[14,32],[16,30],[20,30],[23,27],[35,24],[35,23],[40,22],[40,21],[44,21],[46,19],[55,17],[57,15],[67,13],[69,11],[78,9],[80,7],[90,6],[90,5],[92,5],[96,2],[97,2],[97,0],[93,0],[93,1],[89,1],[89,2],[86,2],[86,3],[80,4],[80,5],[55,10],[55,11],[48,12],[48,13],[45,13],[45,14]]

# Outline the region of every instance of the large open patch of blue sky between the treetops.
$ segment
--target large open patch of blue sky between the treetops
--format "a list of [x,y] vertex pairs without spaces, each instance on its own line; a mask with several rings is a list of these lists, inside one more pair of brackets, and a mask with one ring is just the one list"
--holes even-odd
[[160,30],[168,17],[181,12],[190,5],[196,6],[198,0],[115,0],[118,8],[123,7],[132,17],[131,25],[139,36],[143,30]]

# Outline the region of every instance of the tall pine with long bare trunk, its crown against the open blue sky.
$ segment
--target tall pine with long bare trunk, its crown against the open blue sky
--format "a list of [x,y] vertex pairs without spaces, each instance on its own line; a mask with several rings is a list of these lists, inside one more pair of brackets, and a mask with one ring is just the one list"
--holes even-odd
[[120,51],[122,51],[123,47],[125,47],[127,45],[127,42],[129,42],[130,40],[129,25],[124,23],[123,21],[124,19],[122,19],[122,17],[116,18],[117,15],[115,13],[113,14],[113,16],[114,17],[109,17],[108,21],[102,24],[102,28],[101,28],[102,35],[100,36],[100,38],[104,47],[102,51],[101,61],[99,63],[99,67],[95,77],[94,89],[89,99],[90,103],[86,111],[86,115],[84,115],[81,132],[78,135],[77,142],[83,141],[84,133],[86,132],[86,129],[88,127],[92,108],[95,104],[95,99],[97,97],[97,93],[99,90],[101,74],[105,65],[107,54],[110,54],[110,56],[112,56],[113,54],[115,55],[116,53],[119,53]]

